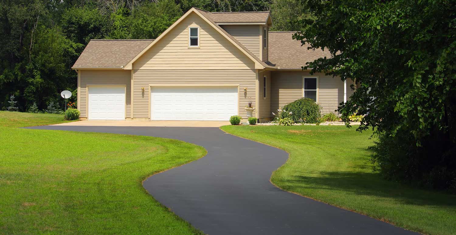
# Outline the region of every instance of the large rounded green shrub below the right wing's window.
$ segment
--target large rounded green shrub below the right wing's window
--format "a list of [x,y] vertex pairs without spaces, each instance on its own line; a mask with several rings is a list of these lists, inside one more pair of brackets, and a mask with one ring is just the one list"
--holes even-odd
[[275,121],[290,117],[294,123],[318,123],[321,107],[314,100],[301,98],[285,105],[275,116]]

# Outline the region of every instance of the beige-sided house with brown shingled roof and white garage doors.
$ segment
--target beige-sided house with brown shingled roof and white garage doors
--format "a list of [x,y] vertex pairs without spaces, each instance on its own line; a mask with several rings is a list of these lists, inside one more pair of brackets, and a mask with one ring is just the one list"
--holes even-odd
[[269,12],[192,8],[155,40],[91,40],[73,66],[81,119],[227,121],[253,102],[263,122],[301,97],[334,112],[349,84],[301,69],[330,54],[270,26]]

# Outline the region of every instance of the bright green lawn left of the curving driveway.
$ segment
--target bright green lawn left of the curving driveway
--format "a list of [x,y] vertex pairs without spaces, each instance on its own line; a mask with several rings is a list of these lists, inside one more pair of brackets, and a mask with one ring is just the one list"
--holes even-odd
[[201,158],[204,148],[165,138],[10,128],[62,117],[0,112],[0,234],[200,234],[141,182]]

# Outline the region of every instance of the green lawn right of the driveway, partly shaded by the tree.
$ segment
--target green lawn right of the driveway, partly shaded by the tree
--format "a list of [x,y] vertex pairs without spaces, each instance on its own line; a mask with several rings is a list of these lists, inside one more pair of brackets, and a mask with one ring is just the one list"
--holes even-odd
[[373,173],[372,132],[345,126],[223,126],[223,131],[290,153],[278,187],[428,234],[456,233],[456,196],[411,188]]

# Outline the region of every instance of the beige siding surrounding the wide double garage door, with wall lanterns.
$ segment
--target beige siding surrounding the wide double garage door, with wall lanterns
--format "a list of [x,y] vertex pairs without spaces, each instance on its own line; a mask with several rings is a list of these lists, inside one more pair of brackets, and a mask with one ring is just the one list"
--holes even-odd
[[[217,70],[135,70],[134,71],[134,118],[150,118],[150,85],[152,86],[238,86],[239,115],[246,118],[249,100],[255,101],[254,69]],[[145,92],[141,91],[145,88]],[[244,92],[247,87],[247,92]],[[254,102],[254,106],[256,106]],[[233,114],[234,115],[234,114]],[[255,112],[254,112],[255,115]]]

